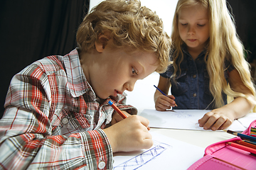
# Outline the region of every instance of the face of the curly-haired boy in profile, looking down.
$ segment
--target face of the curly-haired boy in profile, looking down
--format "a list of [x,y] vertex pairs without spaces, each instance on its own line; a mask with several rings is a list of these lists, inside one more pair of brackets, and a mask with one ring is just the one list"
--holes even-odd
[[153,52],[127,52],[123,48],[112,50],[110,45],[106,45],[92,64],[87,81],[95,94],[105,99],[125,90],[132,91],[138,79],[144,79],[156,70],[158,60]]

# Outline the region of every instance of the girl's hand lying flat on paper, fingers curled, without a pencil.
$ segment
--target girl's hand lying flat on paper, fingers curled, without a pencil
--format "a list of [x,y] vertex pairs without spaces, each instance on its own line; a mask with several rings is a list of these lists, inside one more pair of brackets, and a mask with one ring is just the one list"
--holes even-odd
[[230,109],[222,107],[214,109],[203,115],[198,120],[199,126],[208,130],[223,130],[228,128],[234,121],[234,113]]

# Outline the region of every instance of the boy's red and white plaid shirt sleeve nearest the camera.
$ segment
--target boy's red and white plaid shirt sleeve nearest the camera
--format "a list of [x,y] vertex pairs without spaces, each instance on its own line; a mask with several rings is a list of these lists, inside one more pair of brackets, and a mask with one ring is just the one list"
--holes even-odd
[[47,79],[33,65],[12,79],[0,120],[0,167],[112,169],[112,149],[103,130],[52,135]]

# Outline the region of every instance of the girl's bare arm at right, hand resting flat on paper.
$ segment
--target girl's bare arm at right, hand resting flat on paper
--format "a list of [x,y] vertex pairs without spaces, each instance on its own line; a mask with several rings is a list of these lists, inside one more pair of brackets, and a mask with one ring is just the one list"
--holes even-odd
[[[233,91],[255,98],[252,92],[242,83],[240,74],[236,69],[230,72],[230,78],[228,80],[230,88],[233,89]],[[206,113],[198,122],[204,129],[225,129],[228,128],[235,119],[241,118],[249,113],[254,106],[255,105],[246,98],[237,97],[231,103]]]

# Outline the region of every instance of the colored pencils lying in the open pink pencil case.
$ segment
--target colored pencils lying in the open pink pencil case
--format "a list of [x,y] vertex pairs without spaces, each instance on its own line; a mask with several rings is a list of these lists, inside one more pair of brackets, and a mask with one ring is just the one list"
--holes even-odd
[[245,135],[238,132],[233,132],[232,130],[224,130],[232,135],[237,135],[242,140],[237,140],[235,142],[228,142],[227,144],[236,147],[238,149],[242,149],[246,152],[250,152],[252,154],[256,154],[256,128],[250,129],[250,135]]

